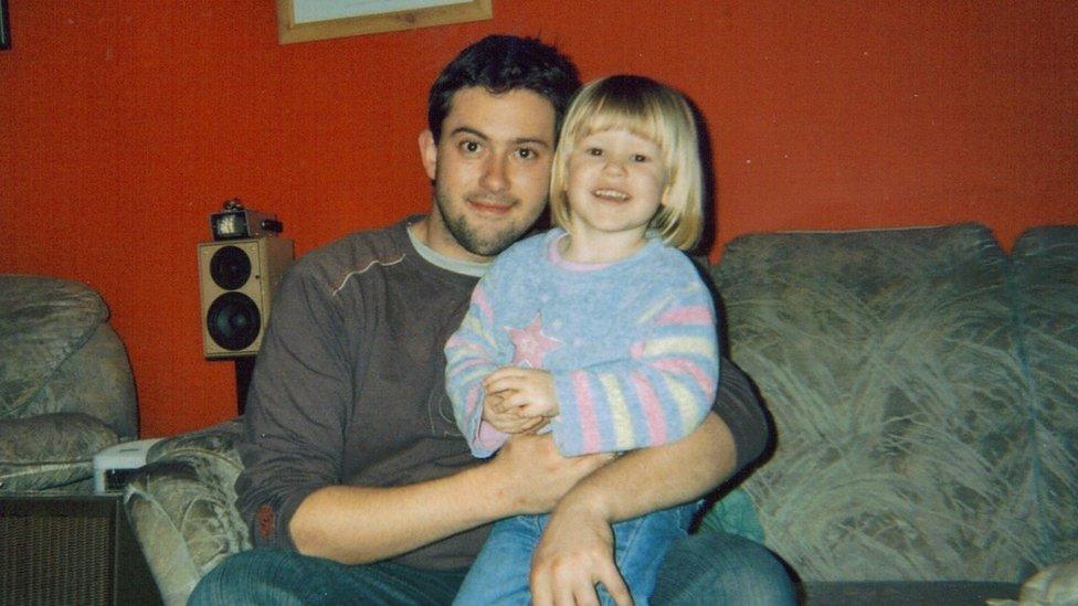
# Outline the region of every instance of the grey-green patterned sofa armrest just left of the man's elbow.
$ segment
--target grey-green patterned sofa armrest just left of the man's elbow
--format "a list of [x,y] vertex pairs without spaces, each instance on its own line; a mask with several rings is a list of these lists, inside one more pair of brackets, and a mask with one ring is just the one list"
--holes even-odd
[[239,436],[231,421],[161,440],[127,486],[127,514],[168,605],[186,604],[202,575],[251,547],[233,488]]

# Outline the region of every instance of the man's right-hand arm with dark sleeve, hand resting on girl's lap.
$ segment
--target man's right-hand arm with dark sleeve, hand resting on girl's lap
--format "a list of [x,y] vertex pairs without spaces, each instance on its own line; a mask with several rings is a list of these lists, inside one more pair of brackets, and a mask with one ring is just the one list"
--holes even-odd
[[685,439],[628,453],[559,501],[532,559],[535,604],[598,603],[596,582],[627,603],[610,524],[699,498],[762,453],[762,410],[744,375],[729,361],[722,364],[716,411],[729,421],[709,413]]

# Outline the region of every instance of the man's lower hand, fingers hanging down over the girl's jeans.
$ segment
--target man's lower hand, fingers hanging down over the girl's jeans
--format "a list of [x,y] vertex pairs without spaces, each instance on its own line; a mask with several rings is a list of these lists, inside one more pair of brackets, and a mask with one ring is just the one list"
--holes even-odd
[[610,523],[584,508],[558,507],[531,559],[531,599],[536,606],[598,606],[602,583],[617,606],[633,598],[614,564]]

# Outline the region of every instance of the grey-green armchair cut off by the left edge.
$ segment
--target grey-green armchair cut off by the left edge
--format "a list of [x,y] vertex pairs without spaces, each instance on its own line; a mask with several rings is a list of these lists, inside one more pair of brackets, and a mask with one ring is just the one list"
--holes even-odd
[[85,284],[0,275],[0,497],[93,492],[93,457],[138,437],[135,383]]

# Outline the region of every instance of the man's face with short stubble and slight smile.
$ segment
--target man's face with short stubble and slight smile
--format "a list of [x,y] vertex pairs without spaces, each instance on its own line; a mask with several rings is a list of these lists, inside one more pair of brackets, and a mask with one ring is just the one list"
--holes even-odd
[[443,254],[486,261],[524,235],[547,203],[554,109],[526,89],[500,95],[462,88],[434,143],[420,138],[434,180],[427,244]]

